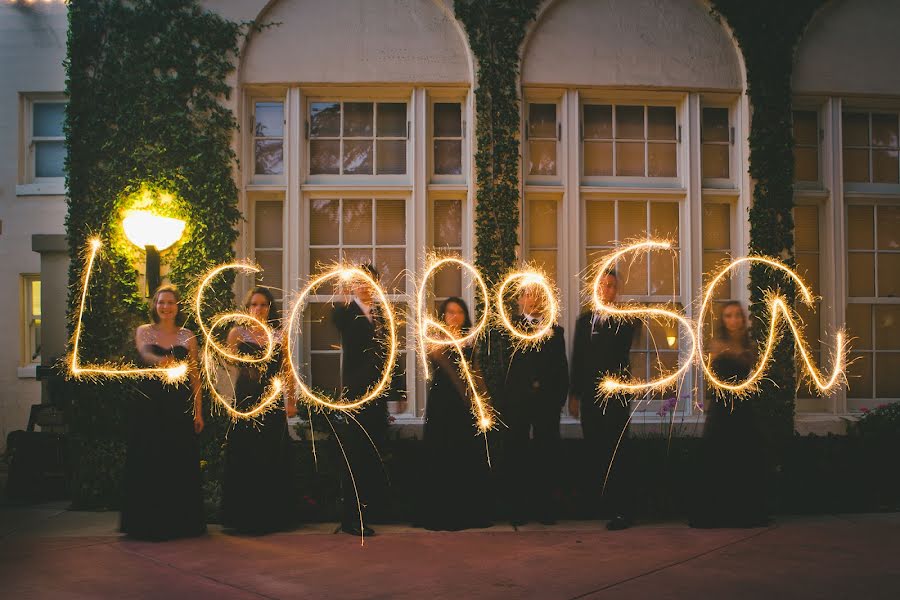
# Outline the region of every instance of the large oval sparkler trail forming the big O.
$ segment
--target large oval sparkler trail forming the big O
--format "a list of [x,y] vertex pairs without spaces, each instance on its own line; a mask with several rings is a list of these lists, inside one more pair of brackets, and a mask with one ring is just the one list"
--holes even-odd
[[[351,281],[362,281],[365,284],[369,285],[381,303],[384,317],[387,320],[388,325],[387,356],[384,361],[384,368],[381,371],[381,378],[375,385],[370,387],[366,391],[366,393],[363,394],[363,396],[352,400],[345,400],[343,399],[343,397],[335,400],[323,394],[316,393],[315,391],[310,389],[308,385],[306,385],[306,382],[300,376],[300,372],[294,364],[293,339],[295,323],[298,321],[298,317],[302,314],[303,307],[306,305],[307,298],[312,293],[312,291],[318,288],[323,283],[332,279],[337,279],[345,284]],[[300,395],[307,402],[318,405],[319,407],[330,408],[332,410],[342,410],[346,412],[358,410],[362,408],[366,403],[383,394],[391,381],[391,377],[393,376],[394,364],[397,361],[398,353],[397,322],[394,317],[394,311],[391,308],[391,303],[388,301],[387,294],[385,293],[384,289],[378,284],[377,281],[372,278],[371,275],[360,268],[338,265],[331,270],[318,275],[315,279],[310,281],[307,286],[303,288],[303,291],[300,292],[300,295],[294,301],[294,304],[291,308],[286,338],[287,339],[285,341],[285,346],[287,357],[288,361],[290,361],[291,373],[293,374],[294,382],[297,384],[297,388],[300,391]]]

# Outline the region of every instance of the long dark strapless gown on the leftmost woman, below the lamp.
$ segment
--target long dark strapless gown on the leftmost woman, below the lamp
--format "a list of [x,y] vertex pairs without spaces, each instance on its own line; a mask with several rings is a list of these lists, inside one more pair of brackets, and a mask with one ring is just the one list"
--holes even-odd
[[[184,360],[184,346],[149,345],[153,354]],[[136,538],[165,540],[206,531],[200,491],[200,450],[189,383],[137,382],[128,411],[125,498],[120,529]]]

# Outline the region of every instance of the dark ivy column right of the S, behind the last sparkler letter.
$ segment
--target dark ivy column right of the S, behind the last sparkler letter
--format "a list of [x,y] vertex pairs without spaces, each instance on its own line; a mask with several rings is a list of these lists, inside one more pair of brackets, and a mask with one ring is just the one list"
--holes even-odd
[[[731,27],[747,69],[750,122],[750,251],[794,261],[794,140],[791,128],[791,74],[794,50],[823,0],[714,0],[713,10]],[[751,315],[756,332],[768,331],[769,311],[762,303],[766,289],[778,290],[793,302],[793,282],[780,273],[754,266],[750,271]],[[754,398],[767,447],[780,454],[794,430],[794,343],[785,336],[775,349],[771,367]]]

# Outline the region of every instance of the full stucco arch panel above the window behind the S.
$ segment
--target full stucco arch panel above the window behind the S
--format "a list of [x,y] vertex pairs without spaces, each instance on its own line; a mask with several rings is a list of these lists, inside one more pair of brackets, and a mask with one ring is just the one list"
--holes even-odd
[[522,81],[739,90],[741,68],[696,0],[557,0],[527,42]]

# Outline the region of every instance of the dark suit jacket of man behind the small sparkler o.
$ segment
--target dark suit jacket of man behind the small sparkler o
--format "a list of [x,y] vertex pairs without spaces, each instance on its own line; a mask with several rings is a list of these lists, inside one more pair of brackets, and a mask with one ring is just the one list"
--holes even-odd
[[[527,330],[524,317],[516,325]],[[537,347],[511,352],[504,382],[504,405],[512,407],[533,397],[539,404],[558,408],[565,404],[569,391],[569,361],[563,328],[554,325],[553,333]]]

